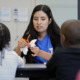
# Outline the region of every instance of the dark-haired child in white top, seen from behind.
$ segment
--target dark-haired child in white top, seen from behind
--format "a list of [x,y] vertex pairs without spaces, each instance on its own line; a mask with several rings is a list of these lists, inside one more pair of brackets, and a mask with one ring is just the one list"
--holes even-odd
[[17,67],[23,67],[23,59],[10,49],[10,32],[0,23],[0,80],[14,80]]

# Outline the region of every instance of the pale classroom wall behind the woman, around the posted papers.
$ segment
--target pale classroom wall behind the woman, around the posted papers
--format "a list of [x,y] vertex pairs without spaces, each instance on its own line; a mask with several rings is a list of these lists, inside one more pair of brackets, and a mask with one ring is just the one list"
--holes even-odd
[[[61,24],[68,19],[77,19],[78,15],[78,1],[77,0],[0,0],[0,9],[1,8],[11,8],[11,20],[10,21],[0,21],[8,26],[11,32],[11,45],[12,49],[17,47],[18,40],[24,34],[27,25],[30,20],[31,12],[35,5],[38,4],[47,4],[50,6],[53,17],[57,24]],[[14,9],[28,9],[28,21],[26,22],[17,22],[17,18],[14,15]]]

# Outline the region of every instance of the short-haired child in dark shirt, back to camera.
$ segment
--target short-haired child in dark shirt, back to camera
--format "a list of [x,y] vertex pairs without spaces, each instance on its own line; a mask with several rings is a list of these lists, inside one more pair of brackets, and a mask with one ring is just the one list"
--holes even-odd
[[61,44],[47,62],[56,80],[80,80],[80,20],[67,20],[61,26]]

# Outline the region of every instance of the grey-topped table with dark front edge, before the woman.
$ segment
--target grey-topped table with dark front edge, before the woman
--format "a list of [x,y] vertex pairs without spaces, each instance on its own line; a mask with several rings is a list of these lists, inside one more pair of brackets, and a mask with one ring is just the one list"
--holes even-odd
[[16,77],[51,78],[53,75],[45,64],[26,64],[24,68],[17,69]]

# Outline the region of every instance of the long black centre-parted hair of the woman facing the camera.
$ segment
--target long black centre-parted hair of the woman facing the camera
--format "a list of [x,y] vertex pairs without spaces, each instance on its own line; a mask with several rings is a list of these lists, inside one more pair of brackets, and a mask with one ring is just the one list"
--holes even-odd
[[36,30],[33,27],[33,16],[37,11],[43,11],[44,13],[47,14],[49,19],[50,18],[52,19],[52,22],[49,24],[48,29],[47,29],[49,36],[50,37],[53,37],[53,35],[60,36],[60,28],[58,27],[55,20],[53,19],[51,9],[47,5],[37,5],[33,9],[33,12],[32,12],[31,18],[30,18],[30,23],[29,23],[28,28],[25,31],[24,35],[26,35],[26,33],[29,33],[29,34],[31,34],[32,39],[37,38],[38,33],[36,32]]

